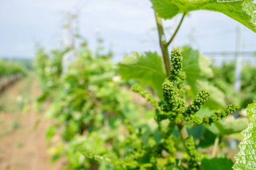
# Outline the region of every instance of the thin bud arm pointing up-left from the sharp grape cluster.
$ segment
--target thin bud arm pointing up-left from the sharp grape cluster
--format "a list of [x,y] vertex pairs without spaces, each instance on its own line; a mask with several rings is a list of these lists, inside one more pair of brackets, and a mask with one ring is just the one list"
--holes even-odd
[[149,103],[154,106],[154,108],[158,108],[158,101],[154,99],[153,95],[149,94],[148,91],[143,90],[142,87],[140,87],[139,85],[133,85],[131,89],[135,93],[141,95],[141,97],[145,98]]

